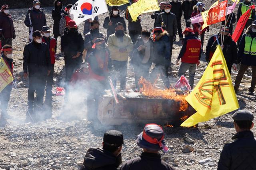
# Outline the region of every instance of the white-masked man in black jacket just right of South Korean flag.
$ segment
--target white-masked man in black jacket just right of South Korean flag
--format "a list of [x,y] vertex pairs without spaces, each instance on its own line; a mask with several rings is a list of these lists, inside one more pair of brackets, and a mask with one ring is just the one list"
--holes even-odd
[[126,31],[126,23],[124,17],[120,16],[120,11],[118,6],[112,6],[110,11],[110,19],[106,17],[103,23],[103,27],[107,29],[107,39],[108,37],[116,32],[116,23],[120,22],[124,24],[124,31]]

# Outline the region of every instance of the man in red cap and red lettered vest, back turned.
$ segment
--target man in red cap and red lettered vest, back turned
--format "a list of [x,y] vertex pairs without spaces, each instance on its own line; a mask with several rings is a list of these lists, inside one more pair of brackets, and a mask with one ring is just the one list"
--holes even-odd
[[185,39],[180,51],[180,55],[176,60],[176,64],[179,65],[179,60],[181,59],[181,65],[178,72],[178,76],[185,74],[189,70],[189,84],[191,89],[194,86],[194,76],[196,72],[196,64],[200,63],[199,59],[202,55],[201,41],[196,38],[195,33],[192,28],[186,28],[183,32]]

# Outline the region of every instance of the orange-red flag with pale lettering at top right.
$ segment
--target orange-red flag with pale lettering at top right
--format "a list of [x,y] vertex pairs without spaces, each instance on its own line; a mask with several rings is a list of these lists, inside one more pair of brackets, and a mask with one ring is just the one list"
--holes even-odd
[[224,21],[226,19],[226,8],[227,8],[228,0],[220,2],[218,5],[210,8],[208,12],[208,20],[207,25],[212,25],[214,23],[218,23]]

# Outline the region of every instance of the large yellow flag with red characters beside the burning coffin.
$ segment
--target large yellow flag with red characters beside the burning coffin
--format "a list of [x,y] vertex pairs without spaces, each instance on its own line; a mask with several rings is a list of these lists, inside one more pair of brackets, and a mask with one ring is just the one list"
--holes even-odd
[[186,100],[197,112],[181,124],[184,127],[194,126],[239,108],[220,45],[199,83]]

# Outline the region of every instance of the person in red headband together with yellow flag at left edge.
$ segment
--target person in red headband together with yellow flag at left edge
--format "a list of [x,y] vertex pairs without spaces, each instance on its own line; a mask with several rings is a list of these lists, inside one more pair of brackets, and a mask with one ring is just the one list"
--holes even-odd
[[[13,73],[12,46],[4,45],[1,51],[2,55],[0,57],[0,127],[3,127],[6,124],[6,119],[10,118],[10,115],[8,115],[7,113],[7,107],[8,102],[10,100],[13,80],[12,75],[10,75],[10,73]],[[2,87],[4,87],[4,89],[2,89]]]

